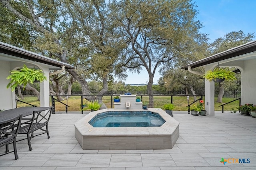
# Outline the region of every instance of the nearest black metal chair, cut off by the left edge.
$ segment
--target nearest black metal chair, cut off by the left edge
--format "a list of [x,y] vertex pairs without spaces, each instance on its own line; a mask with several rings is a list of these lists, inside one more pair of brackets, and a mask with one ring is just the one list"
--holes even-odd
[[[18,131],[20,129],[22,115],[19,115],[13,119],[9,119],[8,121],[1,122],[0,124],[0,147],[6,146],[6,153],[1,154],[3,156],[5,154],[14,152],[15,160],[17,160],[17,147],[16,147],[16,137],[18,135]],[[13,151],[9,152],[8,145],[13,143]]]

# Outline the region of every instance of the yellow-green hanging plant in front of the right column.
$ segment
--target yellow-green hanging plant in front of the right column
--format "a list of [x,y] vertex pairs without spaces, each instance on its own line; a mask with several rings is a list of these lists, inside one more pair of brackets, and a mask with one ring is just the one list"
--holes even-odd
[[214,82],[222,82],[226,80],[236,80],[235,73],[233,71],[228,70],[228,68],[220,68],[216,67],[214,70],[208,70],[204,75],[209,81]]

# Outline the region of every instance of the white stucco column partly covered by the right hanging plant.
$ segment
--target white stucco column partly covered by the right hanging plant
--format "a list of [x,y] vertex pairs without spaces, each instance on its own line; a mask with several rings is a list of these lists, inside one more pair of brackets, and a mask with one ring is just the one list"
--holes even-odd
[[[205,72],[212,70],[213,67],[213,65],[205,66]],[[208,115],[214,115],[214,86],[213,81],[209,82],[209,80],[204,80],[205,110]]]

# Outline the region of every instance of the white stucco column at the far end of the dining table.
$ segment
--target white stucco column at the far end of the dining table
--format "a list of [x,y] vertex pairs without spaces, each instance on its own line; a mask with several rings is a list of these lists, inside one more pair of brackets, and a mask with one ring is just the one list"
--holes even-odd
[[47,77],[47,80],[40,83],[40,106],[48,107],[50,106],[49,68],[41,66],[40,69],[44,71],[44,74]]

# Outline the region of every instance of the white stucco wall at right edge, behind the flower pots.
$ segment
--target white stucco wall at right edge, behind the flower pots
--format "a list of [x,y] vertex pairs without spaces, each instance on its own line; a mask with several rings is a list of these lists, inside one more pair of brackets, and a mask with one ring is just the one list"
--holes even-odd
[[241,104],[256,105],[256,59],[244,61],[242,72]]

